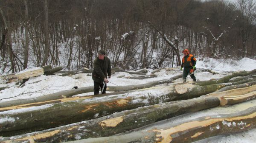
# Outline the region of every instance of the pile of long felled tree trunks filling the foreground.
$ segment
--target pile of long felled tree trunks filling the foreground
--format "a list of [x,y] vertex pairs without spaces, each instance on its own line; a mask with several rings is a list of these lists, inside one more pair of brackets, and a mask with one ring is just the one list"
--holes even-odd
[[[145,72],[146,70],[141,70],[132,74],[145,75]],[[74,72],[76,73],[78,72]],[[212,81],[160,85],[182,77],[178,75],[172,79],[152,81],[139,86],[108,87],[108,91],[115,93],[105,95],[71,97],[93,90],[93,87],[83,87],[81,91],[67,90],[44,98],[20,100],[21,103],[2,102],[0,118],[6,120],[0,123],[0,134],[3,136],[0,141],[32,143],[84,139],[79,140],[79,143],[190,143],[214,135],[241,132],[255,127],[256,107],[236,114],[195,118],[193,121],[165,125],[161,129],[156,125],[152,129],[132,130],[177,115],[252,100],[256,97],[256,82],[251,75],[255,73],[256,70],[235,72]],[[239,76],[242,77],[232,79]],[[16,110],[10,113],[10,109]],[[229,123],[239,126],[230,128],[227,126]],[[212,129],[213,126],[219,129]],[[34,131],[38,132],[26,134]],[[120,135],[112,136],[118,133]],[[20,136],[8,137],[13,135]],[[91,137],[94,138],[86,139]]]

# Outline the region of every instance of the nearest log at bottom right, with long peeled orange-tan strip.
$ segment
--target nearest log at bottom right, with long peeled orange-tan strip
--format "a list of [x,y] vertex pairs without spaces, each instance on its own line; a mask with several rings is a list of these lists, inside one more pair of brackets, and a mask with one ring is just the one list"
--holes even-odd
[[243,132],[256,127],[256,107],[233,114],[195,118],[162,129],[142,130],[125,135],[89,138],[66,143],[192,143],[207,137]]

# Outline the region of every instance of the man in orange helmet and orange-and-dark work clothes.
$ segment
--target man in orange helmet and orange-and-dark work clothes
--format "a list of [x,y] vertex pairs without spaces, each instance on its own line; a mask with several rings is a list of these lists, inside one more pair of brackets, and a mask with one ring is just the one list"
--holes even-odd
[[192,54],[189,54],[189,50],[185,49],[182,51],[182,53],[184,54],[183,58],[182,58],[182,64],[180,67],[180,70],[182,70],[182,68],[184,67],[183,70],[183,82],[186,82],[186,77],[189,76],[193,79],[193,81],[196,81],[195,79],[195,75],[194,74],[190,74],[193,73],[195,70],[195,64],[196,64],[196,59]]

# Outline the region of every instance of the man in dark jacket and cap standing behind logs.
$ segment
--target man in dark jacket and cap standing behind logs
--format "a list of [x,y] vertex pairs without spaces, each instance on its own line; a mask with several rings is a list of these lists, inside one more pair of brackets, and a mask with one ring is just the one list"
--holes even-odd
[[[108,78],[111,78],[111,62],[108,57],[105,56],[104,50],[99,50],[98,57],[93,61],[93,81],[94,81],[94,95],[99,94],[99,87],[102,94],[106,93]],[[108,77],[107,77],[108,73]],[[105,81],[105,87],[103,88],[103,81]]]

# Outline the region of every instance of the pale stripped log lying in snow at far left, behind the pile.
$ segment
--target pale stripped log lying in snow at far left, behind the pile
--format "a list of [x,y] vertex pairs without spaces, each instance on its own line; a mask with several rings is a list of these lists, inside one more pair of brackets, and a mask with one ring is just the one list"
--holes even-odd
[[22,79],[29,79],[30,77],[40,76],[43,74],[44,74],[44,69],[39,68],[36,70],[28,70],[28,71],[24,71],[16,74],[0,76],[0,80],[2,83],[10,83],[15,81],[20,81]]

